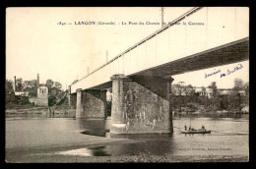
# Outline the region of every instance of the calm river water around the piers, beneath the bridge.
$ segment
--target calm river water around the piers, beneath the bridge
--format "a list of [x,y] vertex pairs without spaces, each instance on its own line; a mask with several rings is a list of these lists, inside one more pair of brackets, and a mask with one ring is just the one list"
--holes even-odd
[[[174,116],[174,133],[169,135],[111,136],[108,133],[110,124],[110,118],[106,120],[76,120],[74,118],[6,117],[6,160],[15,162],[16,158],[19,159],[20,155],[17,155],[19,153],[30,153],[32,157],[38,153],[38,150],[30,151],[28,149],[36,146],[47,149],[41,150],[40,154],[63,156],[119,156],[135,155],[138,152],[149,152],[155,155],[249,156],[248,115],[238,117]],[[205,135],[180,134],[179,130],[183,130],[185,125],[191,125],[195,129],[204,125],[212,133]],[[72,135],[74,137],[71,137]],[[117,142],[96,146],[81,146],[81,142],[79,142],[79,147],[51,148],[52,145],[56,147],[73,142],[76,144],[76,138],[79,136],[96,136],[95,138],[98,139],[129,139],[135,142]],[[20,159],[19,162],[23,162],[23,160]]]

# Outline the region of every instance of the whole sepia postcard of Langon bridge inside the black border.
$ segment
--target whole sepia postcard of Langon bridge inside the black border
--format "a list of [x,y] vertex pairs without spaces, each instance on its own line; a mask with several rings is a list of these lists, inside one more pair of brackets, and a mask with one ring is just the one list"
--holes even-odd
[[249,7],[6,8],[5,162],[249,162]]

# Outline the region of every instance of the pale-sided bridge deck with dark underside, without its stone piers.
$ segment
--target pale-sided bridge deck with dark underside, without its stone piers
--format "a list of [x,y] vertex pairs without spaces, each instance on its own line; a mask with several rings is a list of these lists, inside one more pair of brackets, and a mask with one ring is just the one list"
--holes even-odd
[[[186,25],[174,25],[177,22]],[[116,74],[173,76],[248,60],[248,23],[244,8],[195,8],[72,84],[71,93],[110,87],[110,77]]]

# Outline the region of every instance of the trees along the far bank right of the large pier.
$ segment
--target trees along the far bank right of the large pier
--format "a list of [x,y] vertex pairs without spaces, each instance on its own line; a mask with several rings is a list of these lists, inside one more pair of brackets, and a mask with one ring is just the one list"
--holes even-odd
[[241,79],[234,79],[233,87],[226,91],[225,94],[222,93],[222,89],[218,88],[217,83],[212,82],[208,87],[201,87],[201,92],[206,95],[199,96],[191,84],[179,82],[172,84],[172,105],[174,108],[194,104],[212,110],[237,110],[249,104],[249,83],[244,83]]

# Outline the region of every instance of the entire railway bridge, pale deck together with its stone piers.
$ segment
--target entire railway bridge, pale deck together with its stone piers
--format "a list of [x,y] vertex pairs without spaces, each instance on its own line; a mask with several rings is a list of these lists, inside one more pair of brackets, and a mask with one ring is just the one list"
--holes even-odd
[[110,133],[171,133],[171,76],[248,59],[242,8],[193,8],[71,84],[70,95],[77,118],[106,117],[112,87]]

